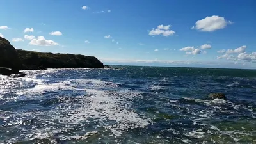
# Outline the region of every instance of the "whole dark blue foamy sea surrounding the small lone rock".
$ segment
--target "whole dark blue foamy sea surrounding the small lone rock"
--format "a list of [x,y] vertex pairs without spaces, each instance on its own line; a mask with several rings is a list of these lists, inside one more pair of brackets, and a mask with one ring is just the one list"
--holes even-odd
[[256,70],[24,72],[0,76],[0,143],[256,143]]

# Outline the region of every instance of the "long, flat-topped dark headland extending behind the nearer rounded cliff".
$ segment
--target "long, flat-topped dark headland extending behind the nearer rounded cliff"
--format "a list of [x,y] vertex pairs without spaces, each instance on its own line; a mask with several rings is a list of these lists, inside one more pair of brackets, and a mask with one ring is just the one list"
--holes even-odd
[[80,54],[52,54],[17,49],[24,70],[46,68],[104,68],[94,56]]

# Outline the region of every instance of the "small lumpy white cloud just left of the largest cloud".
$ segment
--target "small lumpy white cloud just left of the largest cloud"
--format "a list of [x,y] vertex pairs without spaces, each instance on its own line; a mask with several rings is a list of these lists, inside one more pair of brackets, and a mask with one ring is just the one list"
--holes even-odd
[[170,30],[170,25],[163,26],[163,24],[157,26],[157,29],[152,29],[149,31],[149,35],[163,35],[163,36],[170,36],[174,35],[175,31]]

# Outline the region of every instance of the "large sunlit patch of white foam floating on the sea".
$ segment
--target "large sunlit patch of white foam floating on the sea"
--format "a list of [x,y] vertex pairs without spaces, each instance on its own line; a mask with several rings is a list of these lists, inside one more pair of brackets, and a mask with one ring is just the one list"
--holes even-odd
[[[141,118],[142,116],[138,115],[132,108],[133,100],[142,97],[140,92],[115,90],[118,85],[109,81],[71,79],[48,83],[33,78],[26,78],[26,81],[34,81],[35,86],[17,90],[16,94],[22,96],[20,100],[23,100],[24,97],[26,99],[38,99],[40,97],[44,99],[45,92],[58,93],[63,90],[76,90],[84,94],[74,98],[56,95],[55,99],[58,99],[56,106],[47,111],[6,112],[6,115],[9,113],[12,117],[12,120],[5,121],[6,125],[17,125],[20,131],[24,132],[22,136],[6,140],[6,142],[15,142],[19,139],[22,140],[22,138],[54,140],[56,134],[63,140],[86,140],[88,138],[86,128],[92,129],[92,124],[96,125],[95,129],[99,129],[101,132],[112,132],[115,136],[121,136],[123,132],[147,127],[152,122],[148,118]],[[76,88],[77,85],[79,88]],[[106,86],[113,90],[102,90]],[[3,117],[5,120],[7,118],[10,117]],[[27,124],[22,121],[29,119],[38,120],[39,124]],[[24,128],[23,124],[30,128]],[[65,125],[65,127],[61,125]],[[72,136],[74,131],[81,132]]]

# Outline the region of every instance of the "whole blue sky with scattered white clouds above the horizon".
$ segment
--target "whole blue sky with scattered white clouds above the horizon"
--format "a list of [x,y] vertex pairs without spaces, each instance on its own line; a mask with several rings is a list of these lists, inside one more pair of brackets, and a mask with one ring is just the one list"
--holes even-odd
[[256,68],[255,0],[2,0],[16,49],[104,64]]

